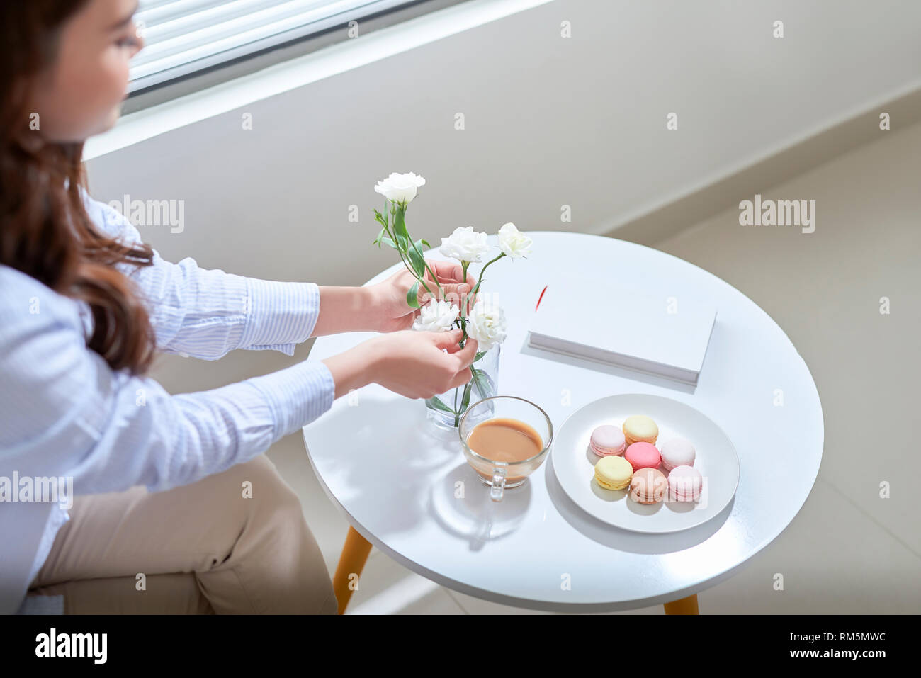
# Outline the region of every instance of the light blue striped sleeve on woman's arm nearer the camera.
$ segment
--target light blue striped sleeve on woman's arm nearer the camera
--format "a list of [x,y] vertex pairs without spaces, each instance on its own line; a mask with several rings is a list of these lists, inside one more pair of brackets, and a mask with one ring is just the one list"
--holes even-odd
[[75,495],[165,490],[250,460],[332,406],[332,374],[319,360],[170,395],[155,380],[112,370],[87,348],[76,304],[28,279],[0,280],[7,472],[71,476]]

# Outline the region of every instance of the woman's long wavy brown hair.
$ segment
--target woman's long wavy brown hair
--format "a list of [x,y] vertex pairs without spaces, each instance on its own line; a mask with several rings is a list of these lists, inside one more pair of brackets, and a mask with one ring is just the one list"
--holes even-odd
[[0,3],[0,263],[54,291],[86,301],[87,346],[113,369],[146,372],[155,341],[134,282],[116,263],[150,265],[146,244],[125,245],[96,228],[80,189],[83,143],[42,142],[29,129],[29,87],[51,67],[64,22],[88,0]]

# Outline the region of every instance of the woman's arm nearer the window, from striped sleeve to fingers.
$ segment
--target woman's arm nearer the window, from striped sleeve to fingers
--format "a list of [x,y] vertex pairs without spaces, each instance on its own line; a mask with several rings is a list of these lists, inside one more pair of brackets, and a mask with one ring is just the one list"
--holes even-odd
[[[108,235],[141,241],[137,228],[110,205],[85,194],[90,218]],[[460,305],[476,284],[467,274],[458,288],[461,264],[429,260],[438,271],[444,297]],[[311,336],[342,332],[394,332],[409,329],[418,310],[406,303],[415,281],[399,271],[373,286],[318,286],[309,282],[261,280],[203,269],[191,258],[165,261],[156,250],[153,265],[119,264],[147,299],[157,348],[214,360],[235,348],[272,348],[294,354]],[[426,272],[431,289],[438,287]],[[419,290],[420,303],[427,295]]]

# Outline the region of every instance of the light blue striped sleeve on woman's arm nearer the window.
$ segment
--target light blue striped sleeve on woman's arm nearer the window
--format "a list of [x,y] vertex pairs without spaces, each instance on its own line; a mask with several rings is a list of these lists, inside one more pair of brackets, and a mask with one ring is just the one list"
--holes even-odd
[[[140,242],[134,225],[117,209],[85,194],[87,212],[112,238]],[[274,349],[288,356],[307,341],[320,316],[320,287],[204,269],[186,257],[165,261],[154,251],[153,265],[121,263],[146,299],[157,335],[167,353],[216,360],[235,348]]]

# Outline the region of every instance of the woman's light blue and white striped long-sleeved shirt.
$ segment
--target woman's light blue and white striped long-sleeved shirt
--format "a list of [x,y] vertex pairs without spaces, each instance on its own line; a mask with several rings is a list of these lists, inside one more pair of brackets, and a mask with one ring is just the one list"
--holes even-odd
[[[118,210],[88,195],[86,205],[104,232],[140,240]],[[119,268],[136,281],[157,348],[168,353],[290,356],[320,314],[315,283],[205,270],[191,258],[169,263],[156,251],[152,266]],[[166,490],[249,461],[332,407],[335,384],[320,360],[170,395],[155,380],[113,371],[87,348],[91,328],[84,302],[0,265],[0,614],[17,610],[69,520],[64,502],[17,495],[14,473],[20,483],[72,477],[75,495]]]

